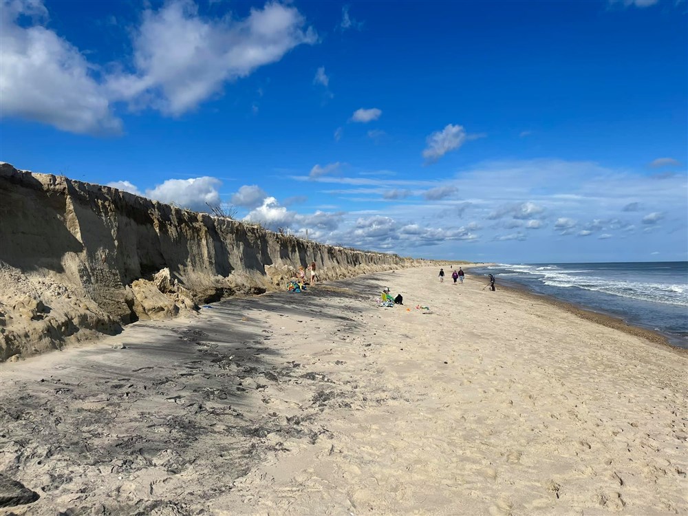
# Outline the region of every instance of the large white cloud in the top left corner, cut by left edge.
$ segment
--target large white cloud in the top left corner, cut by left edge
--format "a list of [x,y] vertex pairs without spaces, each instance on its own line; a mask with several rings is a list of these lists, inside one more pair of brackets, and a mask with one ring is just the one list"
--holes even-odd
[[[31,25],[26,26],[27,18]],[[36,25],[46,20],[41,1],[0,3],[3,116],[72,133],[120,133],[122,121],[112,114],[103,87],[94,79],[94,67],[71,43]]]

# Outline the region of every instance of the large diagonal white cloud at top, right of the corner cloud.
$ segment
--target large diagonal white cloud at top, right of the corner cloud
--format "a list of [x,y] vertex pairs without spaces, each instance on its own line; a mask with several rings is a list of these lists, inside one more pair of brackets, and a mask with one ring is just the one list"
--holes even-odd
[[317,41],[296,8],[276,2],[252,8],[243,20],[204,19],[193,1],[169,2],[142,18],[133,39],[136,72],[110,76],[107,87],[131,107],[173,116],[194,109],[227,81]]

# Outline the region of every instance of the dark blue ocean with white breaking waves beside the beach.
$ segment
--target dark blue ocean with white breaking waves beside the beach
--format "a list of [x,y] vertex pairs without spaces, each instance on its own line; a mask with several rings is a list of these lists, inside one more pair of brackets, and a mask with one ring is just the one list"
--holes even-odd
[[688,261],[495,264],[469,269],[656,330],[688,349]]

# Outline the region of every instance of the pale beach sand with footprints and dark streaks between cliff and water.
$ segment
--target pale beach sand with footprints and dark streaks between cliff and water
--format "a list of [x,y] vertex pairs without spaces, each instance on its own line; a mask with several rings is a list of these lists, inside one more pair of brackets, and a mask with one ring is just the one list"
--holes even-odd
[[0,515],[688,513],[685,353],[437,271],[2,364]]

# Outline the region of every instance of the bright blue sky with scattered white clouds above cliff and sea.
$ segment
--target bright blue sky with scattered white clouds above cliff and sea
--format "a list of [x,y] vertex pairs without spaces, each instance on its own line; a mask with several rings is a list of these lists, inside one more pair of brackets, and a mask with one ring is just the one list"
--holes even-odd
[[0,0],[0,160],[300,237],[688,259],[685,0]]

